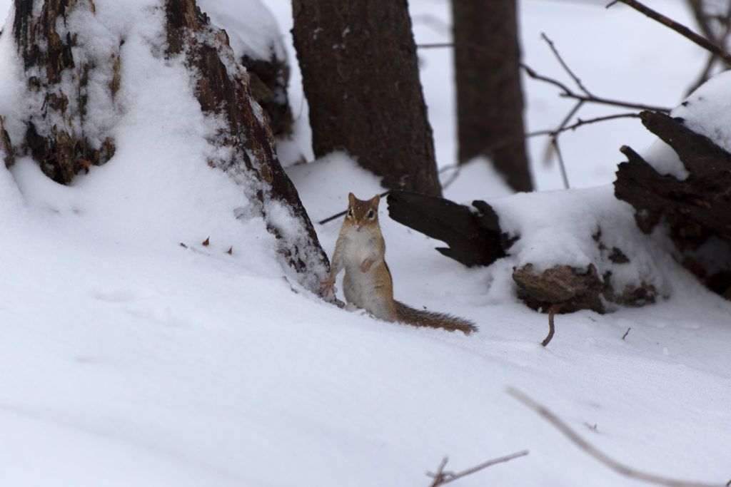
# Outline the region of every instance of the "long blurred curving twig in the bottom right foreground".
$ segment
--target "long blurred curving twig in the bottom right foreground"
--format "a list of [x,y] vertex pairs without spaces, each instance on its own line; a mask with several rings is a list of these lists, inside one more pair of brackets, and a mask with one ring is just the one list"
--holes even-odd
[[541,415],[542,418],[553,424],[553,426],[555,426],[558,431],[563,433],[569,440],[577,445],[577,447],[581,448],[586,453],[588,453],[588,455],[594,457],[594,459],[604,464],[605,467],[609,467],[610,469],[613,469],[615,472],[618,472],[625,477],[634,478],[637,480],[644,480],[645,482],[654,483],[659,486],[670,487],[720,487],[722,485],[693,482],[689,480],[675,480],[627,467],[626,465],[619,463],[618,461],[610,458],[610,456],[607,456],[605,453],[602,453],[601,451],[594,448],[591,443],[587,442],[578,434],[576,434],[571,428],[569,428],[566,423],[561,421],[558,416],[551,413],[542,404],[539,404],[538,402],[534,401],[534,399],[526,396],[526,394],[518,391],[518,389],[509,387],[507,388],[507,394],[515,397],[515,399],[518,399],[518,401],[522,402],[526,406],[530,407],[531,410],[534,410],[536,413]]

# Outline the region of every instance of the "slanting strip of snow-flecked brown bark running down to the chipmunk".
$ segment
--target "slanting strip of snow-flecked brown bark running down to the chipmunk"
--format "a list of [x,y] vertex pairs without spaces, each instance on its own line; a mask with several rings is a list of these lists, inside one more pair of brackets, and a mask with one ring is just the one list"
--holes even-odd
[[[318,292],[329,267],[327,255],[319,245],[295,185],[279,164],[273,134],[262,108],[251,95],[249,78],[233,58],[226,32],[213,28],[194,0],[168,0],[166,14],[167,54],[185,56],[189,66],[197,71],[201,109],[227,121],[217,142],[232,148],[230,157],[211,164],[224,169],[245,187],[251,185],[252,178],[260,183],[251,196],[261,202],[267,228],[279,240],[279,253],[299,273],[303,285]],[[211,45],[197,39],[216,42]],[[295,237],[286,239],[279,228],[279,205],[289,208],[299,224],[299,231],[287,232]]]

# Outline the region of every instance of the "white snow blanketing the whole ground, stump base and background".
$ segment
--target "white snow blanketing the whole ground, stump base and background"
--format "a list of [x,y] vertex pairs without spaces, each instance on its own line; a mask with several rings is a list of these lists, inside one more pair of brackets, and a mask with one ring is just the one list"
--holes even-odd
[[[201,114],[182,61],[151,49],[162,36],[158,2],[94,3],[107,44],[87,46],[105,53],[110,39],[125,40],[118,112],[106,122],[115,156],[69,187],[27,158],[0,166],[1,485],[426,486],[425,472],[444,456],[459,471],[525,449],[455,485],[641,485],[575,448],[507,386],[624,464],[705,482],[731,477],[731,303],[673,263],[662,231],[640,234],[607,185],[618,147],[642,152],[653,142],[637,120],[561,137],[579,189],[510,196],[482,161],[461,169],[447,197],[487,200],[521,236],[488,268],[440,256],[440,242],[391,221],[383,204],[396,298],[470,318],[480,332],[385,323],[284,277],[276,242],[242,188],[206,164],[216,120]],[[269,6],[286,32],[289,1]],[[679,0],[654,6],[689,21]],[[448,22],[447,1],[411,8],[417,42],[442,42],[434,26],[444,20],[423,20]],[[617,98],[673,106],[705,57],[621,6],[526,0],[521,25],[529,64],[556,64],[537,40],[546,31],[587,85]],[[0,37],[9,67],[0,70],[0,115],[10,125],[25,101],[8,37]],[[420,56],[447,180],[455,176],[449,53]],[[306,105],[292,75],[295,143],[306,153]],[[556,126],[566,101],[534,83],[526,89],[531,130]],[[705,96],[723,98],[719,89]],[[697,123],[721,127],[717,114],[716,123],[696,112]],[[537,157],[543,144],[531,141],[534,174],[539,187],[556,189],[555,164]],[[315,222],[344,210],[349,191],[382,192],[340,153],[288,172]],[[286,222],[283,213],[271,218]],[[315,223],[328,253],[340,224]],[[546,315],[515,298],[512,269],[602,258],[591,237],[599,228],[607,248],[631,259],[613,275],[656,279],[667,299],[558,315],[542,348]]]

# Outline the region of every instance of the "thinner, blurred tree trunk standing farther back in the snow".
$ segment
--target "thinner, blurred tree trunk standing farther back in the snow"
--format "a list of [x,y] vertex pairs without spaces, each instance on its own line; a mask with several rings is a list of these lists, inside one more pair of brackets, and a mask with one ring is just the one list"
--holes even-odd
[[452,0],[461,163],[484,155],[515,191],[532,191],[523,139],[515,0]]

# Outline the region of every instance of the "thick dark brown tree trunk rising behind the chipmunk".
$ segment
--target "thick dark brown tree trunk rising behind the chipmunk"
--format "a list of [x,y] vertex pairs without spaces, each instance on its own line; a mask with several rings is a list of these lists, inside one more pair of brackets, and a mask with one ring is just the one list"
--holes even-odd
[[315,156],[345,150],[387,188],[441,195],[405,0],[292,0]]

